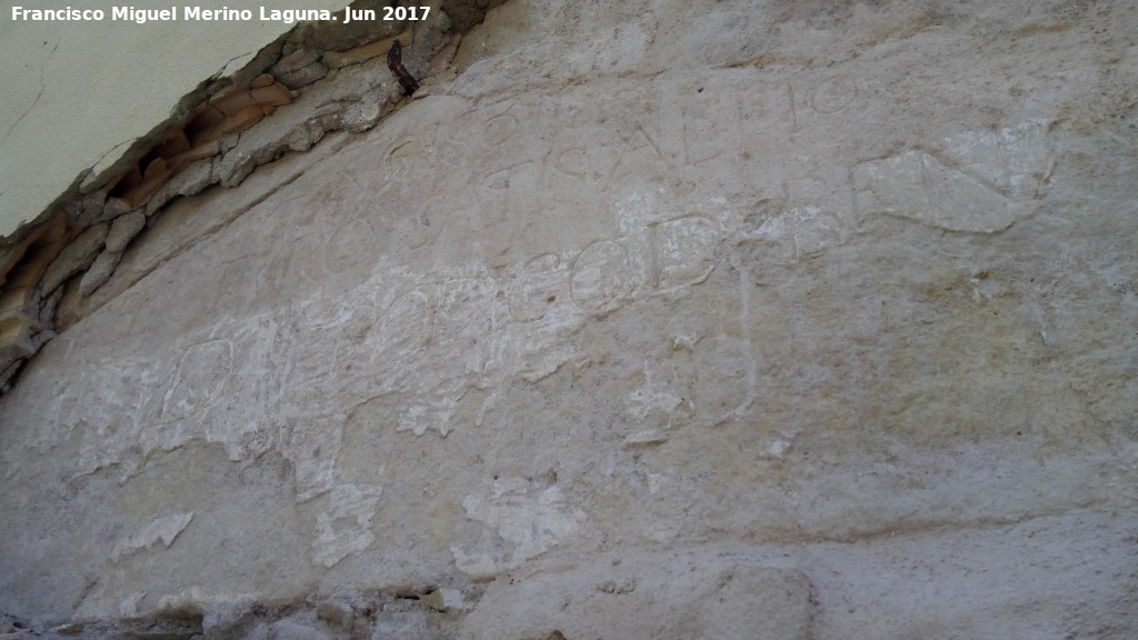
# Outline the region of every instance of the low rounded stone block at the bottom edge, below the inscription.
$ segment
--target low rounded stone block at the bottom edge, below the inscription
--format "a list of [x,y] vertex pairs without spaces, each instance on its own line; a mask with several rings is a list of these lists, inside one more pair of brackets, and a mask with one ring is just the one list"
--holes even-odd
[[637,550],[501,577],[460,638],[808,640],[816,608],[798,571]]

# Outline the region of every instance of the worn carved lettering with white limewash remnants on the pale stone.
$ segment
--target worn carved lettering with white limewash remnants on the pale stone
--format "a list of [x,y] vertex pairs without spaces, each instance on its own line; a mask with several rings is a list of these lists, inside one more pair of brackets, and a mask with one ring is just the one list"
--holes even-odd
[[[665,74],[601,104],[572,92],[547,104],[544,91],[421,100],[426,115],[404,109],[338,157],[332,183],[282,189],[193,264],[140,282],[132,295],[174,312],[132,315],[129,331],[164,346],[69,355],[43,433],[83,429],[83,473],[193,438],[233,459],[278,450],[297,500],[323,509],[312,559],[333,566],[373,542],[381,495],[337,475],[354,408],[379,399],[376,428],[447,436],[495,419],[511,385],[587,361],[583,328],[737,286],[719,296],[719,326],[692,322],[633,361],[642,380],[615,415],[635,445],[747,417],[761,364],[758,265],[815,260],[869,215],[999,231],[1046,188],[1054,161],[1039,122],[852,166],[795,159],[814,124],[853,110],[858,87],[765,77]],[[504,545],[456,547],[476,574],[539,555],[583,522],[555,486],[521,481],[463,507]]]

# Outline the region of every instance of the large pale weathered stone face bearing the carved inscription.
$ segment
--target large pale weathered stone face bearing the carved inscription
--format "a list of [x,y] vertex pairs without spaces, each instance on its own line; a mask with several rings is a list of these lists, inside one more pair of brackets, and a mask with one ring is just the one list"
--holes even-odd
[[1133,9],[494,9],[381,126],[179,200],[26,367],[0,610],[1132,635]]

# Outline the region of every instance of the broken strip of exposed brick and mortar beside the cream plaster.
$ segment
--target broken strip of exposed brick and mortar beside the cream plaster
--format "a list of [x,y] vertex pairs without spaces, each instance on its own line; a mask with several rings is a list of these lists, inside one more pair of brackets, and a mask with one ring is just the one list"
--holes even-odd
[[[381,15],[385,5],[357,0],[353,7],[360,8],[353,10]],[[464,5],[485,13],[473,0],[452,2],[460,14]],[[204,82],[182,97],[173,115],[148,134],[123,142],[82,171],[76,186],[41,215],[30,215],[40,223],[0,238],[0,394],[43,344],[121,293],[99,289],[167,203],[213,184],[236,187],[257,166],[306,151],[327,133],[366,131],[415,91],[414,75],[426,74],[428,60],[452,36],[461,36],[439,2],[422,16],[415,22],[297,26],[231,76]],[[83,28],[94,27],[65,33]],[[99,115],[96,109],[91,117]],[[59,153],[52,146],[56,137],[55,130],[41,133],[39,156]],[[0,142],[2,151],[16,146],[3,142],[7,138]],[[32,163],[22,171],[27,179],[38,169]],[[236,218],[245,208],[228,215]]]

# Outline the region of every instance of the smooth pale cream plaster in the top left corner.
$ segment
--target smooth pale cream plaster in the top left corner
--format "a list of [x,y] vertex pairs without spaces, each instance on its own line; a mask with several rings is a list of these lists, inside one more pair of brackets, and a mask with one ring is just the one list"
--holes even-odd
[[[110,5],[75,7],[102,9],[102,22],[13,22],[11,6],[0,19],[0,57],[8,60],[0,68],[6,87],[0,92],[0,237],[35,220],[92,166],[97,174],[122,171],[115,163],[131,143],[168,118],[171,107],[203,80],[231,75],[296,26],[261,19],[139,25],[112,20]],[[246,0],[197,6],[254,14],[259,8]],[[304,8],[343,13],[344,6],[314,0]],[[143,59],[146,77],[140,79],[129,69]],[[76,96],[83,96],[82,112]],[[138,99],[124,104],[123,96]]]

